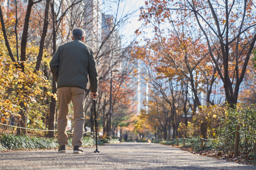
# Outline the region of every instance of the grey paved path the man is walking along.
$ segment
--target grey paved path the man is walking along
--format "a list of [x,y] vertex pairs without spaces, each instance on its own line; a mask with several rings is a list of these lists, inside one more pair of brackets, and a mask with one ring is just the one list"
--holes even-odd
[[256,170],[153,143],[107,144],[99,147],[100,153],[93,153],[95,147],[84,150],[0,152],[0,170]]

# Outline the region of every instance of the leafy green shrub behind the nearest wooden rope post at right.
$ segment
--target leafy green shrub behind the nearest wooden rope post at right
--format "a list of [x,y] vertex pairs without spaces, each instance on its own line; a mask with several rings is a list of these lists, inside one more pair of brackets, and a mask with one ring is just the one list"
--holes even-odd
[[[256,105],[237,105],[236,109],[227,109],[226,117],[222,119],[222,126],[218,129],[219,136],[226,136],[240,125],[239,150],[243,153],[255,152],[256,149]],[[235,135],[232,133],[220,139],[219,147],[226,152],[234,151]],[[251,137],[254,136],[254,137]]]

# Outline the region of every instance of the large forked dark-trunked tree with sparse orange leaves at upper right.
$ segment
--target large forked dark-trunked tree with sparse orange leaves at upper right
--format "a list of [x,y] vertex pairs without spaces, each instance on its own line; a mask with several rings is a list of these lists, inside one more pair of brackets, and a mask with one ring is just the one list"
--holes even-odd
[[[141,11],[141,19],[146,24],[155,16],[159,23],[172,20],[176,25],[186,23],[198,28],[195,34],[204,36],[209,55],[224,83],[227,102],[234,108],[256,40],[253,1],[152,0],[146,1]],[[216,47],[220,49],[221,62],[214,53]]]

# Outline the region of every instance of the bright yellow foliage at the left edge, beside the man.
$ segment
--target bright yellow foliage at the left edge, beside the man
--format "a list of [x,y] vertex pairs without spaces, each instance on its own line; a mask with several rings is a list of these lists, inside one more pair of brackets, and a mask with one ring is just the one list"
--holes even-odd
[[7,55],[0,57],[0,113],[4,115],[2,121],[8,121],[9,116],[20,118],[20,103],[23,102],[28,107],[29,103],[37,102],[36,95],[43,95],[42,88],[51,88],[40,71],[34,73],[33,67],[26,67],[23,73],[14,64]]

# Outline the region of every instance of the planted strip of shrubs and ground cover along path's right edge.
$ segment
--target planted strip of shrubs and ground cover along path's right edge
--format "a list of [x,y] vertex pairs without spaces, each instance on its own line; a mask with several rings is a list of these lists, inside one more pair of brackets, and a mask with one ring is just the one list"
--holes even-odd
[[[202,108],[201,117],[195,115],[192,120],[194,125],[205,122],[207,139],[199,137],[199,132],[191,133],[191,128],[184,128],[183,131],[179,130],[182,134],[187,134],[187,138],[159,143],[179,146],[192,153],[222,160],[256,165],[256,105],[239,104],[236,109],[216,109],[215,106]],[[213,126],[212,122],[218,126]]]

